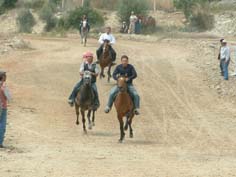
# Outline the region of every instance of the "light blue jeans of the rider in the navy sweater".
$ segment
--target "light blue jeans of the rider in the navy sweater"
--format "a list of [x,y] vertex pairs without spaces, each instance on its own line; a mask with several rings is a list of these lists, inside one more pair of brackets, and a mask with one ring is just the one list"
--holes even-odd
[[[118,92],[119,92],[119,88],[117,86],[114,86],[111,89],[108,103],[107,103],[107,106],[109,108],[112,107],[112,104],[113,104]],[[140,108],[140,97],[138,95],[138,92],[136,91],[136,89],[134,88],[134,86],[132,84],[128,84],[128,92],[130,93],[130,96],[134,102],[134,109],[139,109]]]

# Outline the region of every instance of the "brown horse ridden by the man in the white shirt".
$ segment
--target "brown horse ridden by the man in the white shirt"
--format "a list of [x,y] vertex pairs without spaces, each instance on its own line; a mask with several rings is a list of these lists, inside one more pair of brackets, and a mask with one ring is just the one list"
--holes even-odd
[[104,69],[106,67],[108,67],[108,71],[107,71],[108,78],[107,78],[107,81],[110,82],[111,67],[113,66],[113,63],[112,63],[111,56],[109,54],[109,41],[108,40],[104,41],[103,52],[102,52],[101,56],[99,57],[99,64],[100,64],[100,67],[101,67],[100,79],[105,77]]

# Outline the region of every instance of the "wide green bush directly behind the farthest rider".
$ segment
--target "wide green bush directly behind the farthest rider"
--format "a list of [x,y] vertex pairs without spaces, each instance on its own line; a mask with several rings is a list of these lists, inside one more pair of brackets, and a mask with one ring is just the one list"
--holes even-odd
[[69,15],[66,17],[65,27],[79,29],[80,21],[82,20],[83,15],[87,15],[90,25],[100,26],[104,24],[104,19],[100,13],[91,8],[76,8],[73,11],[69,12]]

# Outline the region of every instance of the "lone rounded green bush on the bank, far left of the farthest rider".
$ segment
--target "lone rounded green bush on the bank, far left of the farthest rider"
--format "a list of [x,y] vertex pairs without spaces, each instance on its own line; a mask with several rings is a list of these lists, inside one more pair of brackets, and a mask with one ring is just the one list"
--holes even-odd
[[35,19],[29,9],[20,11],[17,17],[19,32],[31,33],[32,27],[35,25]]

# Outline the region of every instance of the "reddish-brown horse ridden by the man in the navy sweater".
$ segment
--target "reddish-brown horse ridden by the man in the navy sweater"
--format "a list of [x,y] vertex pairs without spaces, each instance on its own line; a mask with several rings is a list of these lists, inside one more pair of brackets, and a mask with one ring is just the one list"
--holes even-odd
[[[124,130],[127,130],[129,127],[130,138],[133,138],[133,129],[131,127],[132,119],[134,117],[134,105],[131,99],[131,96],[128,93],[128,87],[126,83],[126,78],[120,76],[117,80],[117,86],[119,92],[115,98],[114,105],[117,112],[117,117],[120,123],[120,139],[119,142],[122,143],[125,137]],[[124,127],[123,117],[126,117],[126,124]]]

